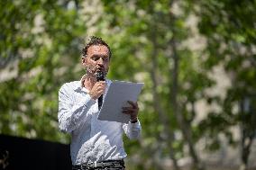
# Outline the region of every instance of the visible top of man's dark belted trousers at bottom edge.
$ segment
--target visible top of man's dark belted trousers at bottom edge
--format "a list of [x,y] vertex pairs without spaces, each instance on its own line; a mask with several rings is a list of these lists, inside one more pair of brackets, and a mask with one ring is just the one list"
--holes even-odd
[[72,170],[125,170],[124,161],[106,160],[95,163],[72,166]]

